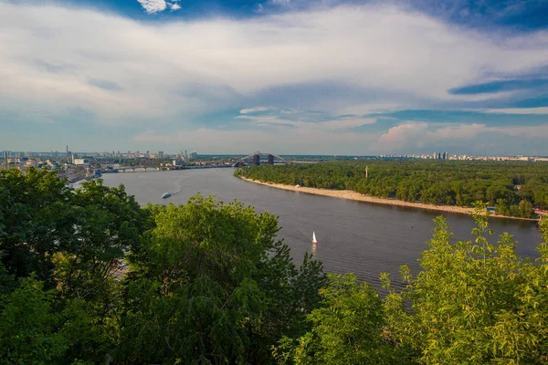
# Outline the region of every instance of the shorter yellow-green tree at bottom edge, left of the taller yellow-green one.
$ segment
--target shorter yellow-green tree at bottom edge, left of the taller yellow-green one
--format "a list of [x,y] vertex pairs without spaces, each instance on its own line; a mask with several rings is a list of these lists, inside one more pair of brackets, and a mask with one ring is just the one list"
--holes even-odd
[[322,307],[308,316],[310,332],[284,338],[274,354],[279,363],[406,364],[406,352],[387,336],[381,299],[353,275],[330,276],[321,289]]

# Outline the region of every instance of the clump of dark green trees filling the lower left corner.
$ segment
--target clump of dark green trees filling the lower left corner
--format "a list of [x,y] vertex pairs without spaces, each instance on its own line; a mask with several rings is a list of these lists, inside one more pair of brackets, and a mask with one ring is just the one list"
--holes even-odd
[[0,172],[0,201],[2,356],[104,360],[118,333],[112,273],[139,245],[147,212],[122,186],[92,181],[75,192],[36,169]]

